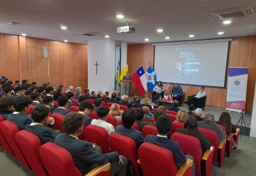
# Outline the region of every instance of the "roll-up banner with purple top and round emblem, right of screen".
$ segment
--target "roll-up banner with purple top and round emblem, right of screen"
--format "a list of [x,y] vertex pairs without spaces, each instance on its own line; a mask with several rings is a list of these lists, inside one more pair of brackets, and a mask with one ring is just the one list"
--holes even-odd
[[241,113],[246,108],[247,79],[247,67],[228,68],[226,110]]

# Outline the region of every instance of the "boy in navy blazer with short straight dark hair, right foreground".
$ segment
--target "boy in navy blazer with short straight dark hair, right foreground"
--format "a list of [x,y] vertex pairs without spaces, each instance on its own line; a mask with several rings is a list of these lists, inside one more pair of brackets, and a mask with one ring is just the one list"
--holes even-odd
[[160,117],[158,117],[156,121],[156,128],[158,130],[158,135],[147,135],[147,137],[145,137],[145,142],[149,142],[151,144],[155,144],[157,146],[161,146],[163,148],[166,148],[167,150],[170,150],[174,157],[174,162],[177,168],[180,168],[183,164],[185,164],[187,158],[193,159],[192,156],[183,154],[181,147],[179,146],[179,143],[177,141],[173,141],[167,138],[167,133],[170,132],[172,128],[172,121],[169,119],[169,117],[165,115],[161,115]]

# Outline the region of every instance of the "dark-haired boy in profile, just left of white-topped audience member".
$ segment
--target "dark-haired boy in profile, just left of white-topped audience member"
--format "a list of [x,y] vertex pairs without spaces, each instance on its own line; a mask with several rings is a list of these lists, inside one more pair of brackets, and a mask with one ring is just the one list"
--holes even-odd
[[91,104],[91,102],[85,100],[81,101],[78,113],[82,114],[82,116],[84,117],[85,126],[89,126],[89,124],[91,124],[91,117],[89,117],[88,115],[91,114],[92,110],[93,104]]

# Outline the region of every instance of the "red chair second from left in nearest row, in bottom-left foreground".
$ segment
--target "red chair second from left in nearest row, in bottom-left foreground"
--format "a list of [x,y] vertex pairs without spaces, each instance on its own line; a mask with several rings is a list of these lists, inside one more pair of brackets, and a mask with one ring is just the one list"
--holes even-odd
[[48,173],[39,157],[39,147],[42,146],[39,138],[33,133],[21,130],[16,133],[15,140],[35,175],[47,176]]

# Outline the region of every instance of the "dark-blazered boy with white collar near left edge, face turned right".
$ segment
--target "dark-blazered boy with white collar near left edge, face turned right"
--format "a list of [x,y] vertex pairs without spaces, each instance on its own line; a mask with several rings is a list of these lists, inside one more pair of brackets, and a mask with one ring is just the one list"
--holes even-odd
[[19,130],[25,130],[25,128],[32,122],[32,119],[26,115],[29,110],[30,99],[24,96],[19,96],[15,98],[13,102],[13,107],[15,112],[8,116],[8,120],[17,124]]

